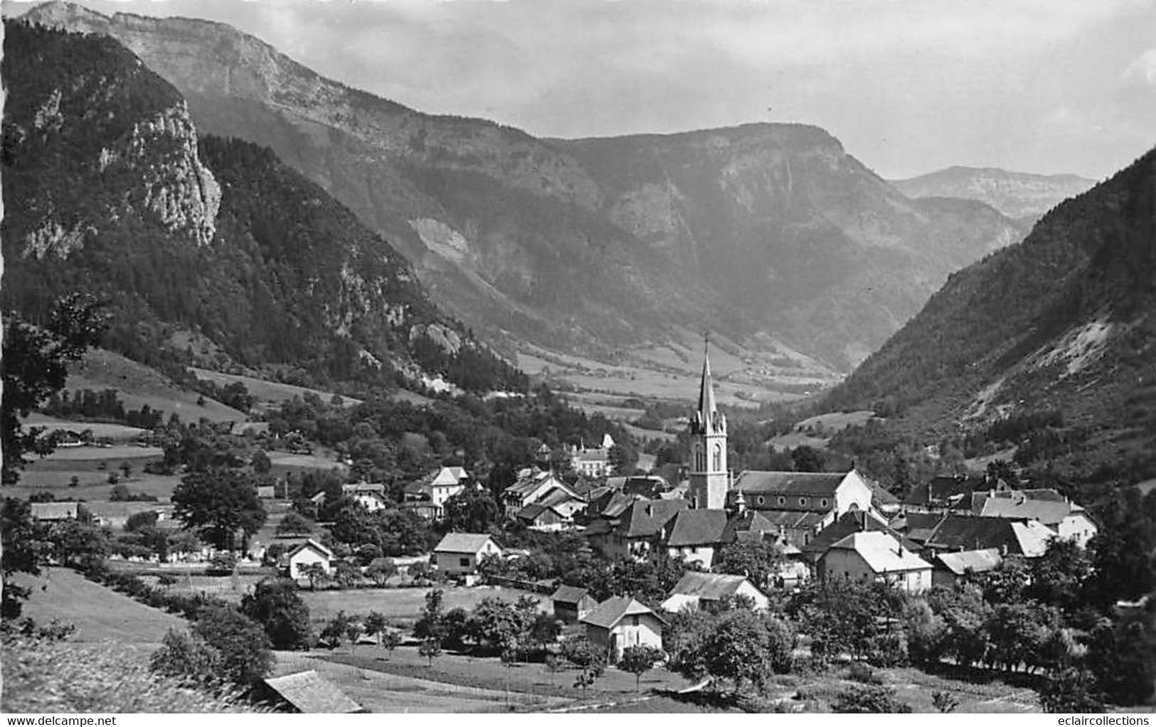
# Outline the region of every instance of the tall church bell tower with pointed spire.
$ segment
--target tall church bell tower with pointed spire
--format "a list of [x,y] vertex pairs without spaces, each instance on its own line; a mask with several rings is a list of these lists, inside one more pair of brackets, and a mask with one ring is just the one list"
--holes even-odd
[[[706,349],[710,341],[706,342]],[[690,420],[690,500],[694,507],[726,506],[729,476],[726,468],[726,416],[714,403],[710,351],[703,351],[703,380],[698,410]]]

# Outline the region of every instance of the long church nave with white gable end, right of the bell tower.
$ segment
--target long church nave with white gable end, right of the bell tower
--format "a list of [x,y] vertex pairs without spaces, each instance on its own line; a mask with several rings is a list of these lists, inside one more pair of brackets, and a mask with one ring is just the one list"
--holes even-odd
[[758,472],[739,475],[731,497],[741,492],[747,507],[759,511],[785,541],[802,548],[845,512],[870,510],[867,480],[847,473]]

